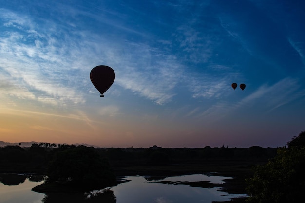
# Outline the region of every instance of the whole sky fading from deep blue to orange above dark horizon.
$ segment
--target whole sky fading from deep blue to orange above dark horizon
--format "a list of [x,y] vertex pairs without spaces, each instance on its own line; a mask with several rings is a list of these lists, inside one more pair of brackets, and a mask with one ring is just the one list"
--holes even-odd
[[[283,147],[305,130],[304,8],[1,0],[0,140]],[[105,97],[90,81],[98,65],[116,75]]]

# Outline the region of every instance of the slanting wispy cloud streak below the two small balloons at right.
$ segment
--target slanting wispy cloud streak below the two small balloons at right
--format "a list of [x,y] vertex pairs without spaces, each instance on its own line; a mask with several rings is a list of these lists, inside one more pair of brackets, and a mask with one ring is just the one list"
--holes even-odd
[[[206,95],[208,96],[209,94],[206,93]],[[230,115],[233,111],[245,107],[264,112],[276,111],[281,106],[304,98],[304,95],[304,90],[300,89],[299,79],[287,77],[273,85],[264,84],[258,87],[255,92],[239,102],[216,100],[206,110],[202,111],[202,109],[197,108],[190,113],[196,118],[204,119],[206,122],[214,122]]]

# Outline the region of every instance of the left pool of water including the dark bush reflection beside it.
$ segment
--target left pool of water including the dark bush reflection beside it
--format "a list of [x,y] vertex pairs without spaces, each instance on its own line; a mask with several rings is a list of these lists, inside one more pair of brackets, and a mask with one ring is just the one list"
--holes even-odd
[[32,191],[44,177],[33,174],[0,174],[0,203],[116,203],[111,189],[87,193],[49,193]]

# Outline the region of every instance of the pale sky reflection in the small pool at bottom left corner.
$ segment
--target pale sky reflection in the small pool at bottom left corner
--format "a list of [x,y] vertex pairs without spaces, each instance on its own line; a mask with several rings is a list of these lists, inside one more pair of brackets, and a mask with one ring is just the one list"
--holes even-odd
[[8,186],[0,183],[0,203],[41,203],[44,194],[31,191],[42,182],[31,182],[28,179],[19,185]]

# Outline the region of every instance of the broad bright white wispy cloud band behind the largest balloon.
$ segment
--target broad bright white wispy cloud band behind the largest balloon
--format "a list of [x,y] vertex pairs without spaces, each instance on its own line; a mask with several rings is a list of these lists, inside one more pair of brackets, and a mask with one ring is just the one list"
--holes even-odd
[[[148,44],[102,38],[84,30],[68,35],[70,31],[59,29],[61,25],[53,22],[40,29],[28,17],[2,11],[7,13],[2,17],[5,16],[8,31],[0,37],[1,66],[13,79],[22,80],[38,101],[85,102],[81,91],[90,81],[81,84],[75,81],[84,81],[89,67],[101,62],[112,64],[116,69],[115,84],[157,104],[171,100],[181,72],[183,75],[183,67],[175,56]],[[13,27],[22,32],[15,32]],[[141,58],[135,58],[137,55]],[[90,66],[92,63],[94,65]],[[74,74],[74,70],[80,75]],[[74,74],[73,77],[69,77],[70,74]]]

